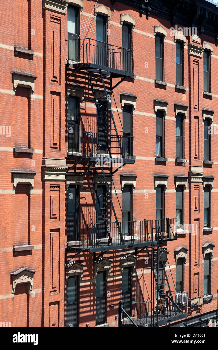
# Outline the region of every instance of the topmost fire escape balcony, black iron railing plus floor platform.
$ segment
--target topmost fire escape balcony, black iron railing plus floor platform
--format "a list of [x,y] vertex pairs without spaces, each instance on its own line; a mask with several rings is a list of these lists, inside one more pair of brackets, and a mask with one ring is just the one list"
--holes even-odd
[[91,38],[67,41],[68,68],[101,69],[111,72],[113,77],[134,77],[133,50]]

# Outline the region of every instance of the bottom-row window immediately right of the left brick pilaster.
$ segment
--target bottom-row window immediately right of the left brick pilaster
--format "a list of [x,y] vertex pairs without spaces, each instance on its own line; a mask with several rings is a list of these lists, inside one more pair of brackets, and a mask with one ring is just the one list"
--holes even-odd
[[66,327],[78,327],[78,295],[78,276],[70,276],[66,287]]

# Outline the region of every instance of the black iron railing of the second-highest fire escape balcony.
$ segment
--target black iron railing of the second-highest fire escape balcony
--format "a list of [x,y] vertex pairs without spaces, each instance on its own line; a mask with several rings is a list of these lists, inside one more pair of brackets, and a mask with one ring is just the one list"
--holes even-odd
[[134,159],[134,137],[121,135],[119,140],[121,148],[117,135],[79,132],[79,126],[72,124],[68,128],[68,155],[76,152],[85,158]]

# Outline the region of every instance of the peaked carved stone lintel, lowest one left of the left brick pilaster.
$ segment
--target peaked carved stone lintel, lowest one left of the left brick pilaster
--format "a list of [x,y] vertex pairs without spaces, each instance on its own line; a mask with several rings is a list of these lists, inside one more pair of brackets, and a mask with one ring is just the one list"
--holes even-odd
[[28,283],[27,291],[30,292],[33,290],[33,275],[36,271],[29,270],[27,268],[19,268],[15,272],[10,274],[12,279],[12,294],[14,294],[15,287],[18,283]]

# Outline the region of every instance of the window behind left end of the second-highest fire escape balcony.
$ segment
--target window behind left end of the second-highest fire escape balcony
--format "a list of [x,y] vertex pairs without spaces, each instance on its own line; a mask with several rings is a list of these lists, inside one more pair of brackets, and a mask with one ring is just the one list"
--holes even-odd
[[77,98],[68,98],[68,152],[79,152],[79,103]]

